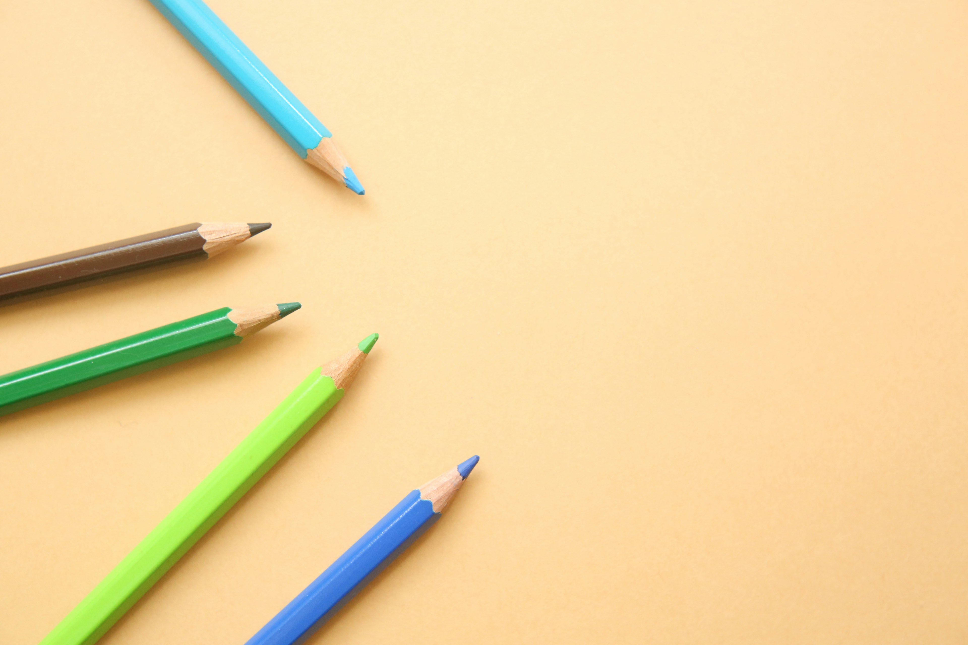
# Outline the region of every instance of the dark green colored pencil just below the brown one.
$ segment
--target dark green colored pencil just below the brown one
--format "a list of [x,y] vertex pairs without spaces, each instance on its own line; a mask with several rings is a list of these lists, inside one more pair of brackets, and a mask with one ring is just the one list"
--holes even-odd
[[242,342],[299,303],[221,308],[0,376],[0,416]]

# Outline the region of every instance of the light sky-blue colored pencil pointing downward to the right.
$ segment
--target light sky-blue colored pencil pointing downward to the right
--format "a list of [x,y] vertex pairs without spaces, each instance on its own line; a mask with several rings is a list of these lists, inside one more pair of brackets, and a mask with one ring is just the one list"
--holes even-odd
[[332,133],[204,2],[150,1],[299,157],[350,191],[363,194],[347,158],[333,143]]

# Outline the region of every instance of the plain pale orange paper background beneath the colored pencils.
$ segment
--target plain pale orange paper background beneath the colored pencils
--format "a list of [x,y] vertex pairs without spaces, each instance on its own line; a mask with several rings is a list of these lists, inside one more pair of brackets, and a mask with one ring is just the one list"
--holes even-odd
[[211,6],[367,195],[292,155],[145,0],[0,7],[0,264],[274,224],[0,309],[0,371],[304,305],[0,420],[0,642],[38,642],[372,331],[346,399],[105,645],[244,642],[475,453],[312,643],[968,639],[964,3]]

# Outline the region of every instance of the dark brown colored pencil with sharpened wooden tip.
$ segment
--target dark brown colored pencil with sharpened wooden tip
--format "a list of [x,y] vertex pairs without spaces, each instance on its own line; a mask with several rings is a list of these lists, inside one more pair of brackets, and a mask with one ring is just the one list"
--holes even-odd
[[50,295],[144,269],[210,257],[258,235],[270,223],[195,221],[177,228],[73,250],[0,269],[0,305]]

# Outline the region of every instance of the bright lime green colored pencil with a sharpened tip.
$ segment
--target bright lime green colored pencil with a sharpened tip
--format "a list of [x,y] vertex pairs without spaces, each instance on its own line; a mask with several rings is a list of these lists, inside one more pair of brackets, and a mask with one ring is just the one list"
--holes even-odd
[[343,398],[377,342],[373,334],[315,368],[104,580],[41,645],[97,642],[227,513],[262,475]]

